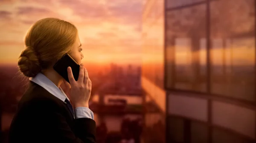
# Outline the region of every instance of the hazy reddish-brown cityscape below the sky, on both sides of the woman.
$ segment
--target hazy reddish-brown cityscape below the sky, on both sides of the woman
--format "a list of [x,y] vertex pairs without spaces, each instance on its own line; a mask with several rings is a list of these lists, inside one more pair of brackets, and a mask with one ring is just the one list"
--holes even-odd
[[[101,70],[87,67],[93,83],[90,109],[97,126],[97,143],[116,143],[114,140],[136,140],[142,130],[142,90],[139,66],[119,66],[111,63]],[[17,103],[28,86],[28,79],[15,65],[0,66],[1,143],[7,143],[9,126]],[[140,133],[134,133],[136,130]]]

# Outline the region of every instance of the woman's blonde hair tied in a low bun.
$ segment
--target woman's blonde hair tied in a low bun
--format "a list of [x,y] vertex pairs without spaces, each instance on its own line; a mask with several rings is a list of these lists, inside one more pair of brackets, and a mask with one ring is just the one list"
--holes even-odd
[[57,18],[44,18],[33,24],[25,36],[25,49],[18,66],[23,75],[34,77],[72,50],[76,27]]

